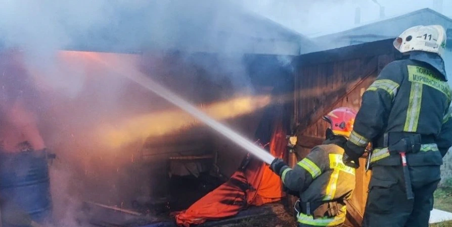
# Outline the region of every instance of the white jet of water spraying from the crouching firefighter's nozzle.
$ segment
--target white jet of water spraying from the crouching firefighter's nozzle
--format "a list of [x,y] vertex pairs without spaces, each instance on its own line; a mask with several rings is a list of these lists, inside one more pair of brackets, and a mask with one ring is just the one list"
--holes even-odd
[[130,80],[134,81],[135,83],[140,84],[144,88],[152,91],[156,95],[166,99],[167,101],[171,102],[172,104],[178,106],[179,108],[183,109],[184,111],[190,113],[193,117],[199,119],[201,122],[205,123],[215,131],[221,133],[223,136],[227,137],[237,145],[241,146],[248,152],[252,153],[254,156],[258,157],[262,161],[264,161],[267,164],[271,164],[273,160],[275,160],[275,157],[262,149],[261,147],[257,146],[256,144],[252,143],[251,141],[247,140],[245,137],[239,135],[234,130],[224,126],[223,124],[215,121],[206,113],[199,110],[192,104],[190,104],[188,101],[184,100],[183,98],[180,98],[170,90],[166,89],[162,85],[156,83],[154,80],[149,78],[146,74],[136,70],[134,67],[125,67],[123,68],[124,64],[123,62],[121,64],[111,64],[107,63],[106,61],[103,61],[102,59],[97,59],[96,61],[101,62],[104,65],[107,65],[108,68],[114,70],[115,72],[119,73],[122,76],[125,76],[129,78]]

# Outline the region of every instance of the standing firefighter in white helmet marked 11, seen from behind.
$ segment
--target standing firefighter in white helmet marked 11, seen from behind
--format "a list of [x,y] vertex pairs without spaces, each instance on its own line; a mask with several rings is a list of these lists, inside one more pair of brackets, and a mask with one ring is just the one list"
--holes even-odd
[[438,25],[405,30],[394,40],[403,59],[389,63],[363,94],[343,160],[358,166],[372,142],[363,226],[428,226],[439,167],[452,145],[445,41]]

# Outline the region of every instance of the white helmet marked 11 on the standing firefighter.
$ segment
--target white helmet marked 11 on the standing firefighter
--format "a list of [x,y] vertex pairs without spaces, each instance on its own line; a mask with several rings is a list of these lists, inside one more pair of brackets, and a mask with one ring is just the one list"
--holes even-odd
[[446,47],[446,32],[441,25],[415,26],[402,32],[393,45],[401,53],[421,50],[437,53],[442,58]]

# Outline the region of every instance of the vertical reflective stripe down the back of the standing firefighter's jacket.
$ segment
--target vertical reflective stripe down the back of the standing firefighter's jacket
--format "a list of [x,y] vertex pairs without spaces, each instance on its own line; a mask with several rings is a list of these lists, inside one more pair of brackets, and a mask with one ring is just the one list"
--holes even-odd
[[406,120],[403,131],[416,132],[418,130],[419,112],[421,111],[422,84],[412,83],[410,101],[406,110]]

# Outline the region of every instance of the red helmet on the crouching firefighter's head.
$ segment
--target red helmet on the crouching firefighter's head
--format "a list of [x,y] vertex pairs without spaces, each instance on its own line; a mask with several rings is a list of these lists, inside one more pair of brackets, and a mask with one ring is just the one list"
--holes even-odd
[[334,135],[349,137],[355,121],[355,110],[347,107],[333,109],[323,120],[330,123]]

